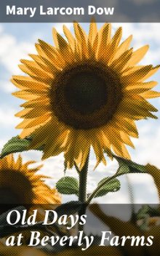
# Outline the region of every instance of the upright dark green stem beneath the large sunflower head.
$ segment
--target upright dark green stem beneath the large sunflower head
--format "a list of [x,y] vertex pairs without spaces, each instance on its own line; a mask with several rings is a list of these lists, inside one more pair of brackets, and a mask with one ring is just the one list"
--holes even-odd
[[[79,172],[79,201],[82,203],[79,216],[86,213],[86,201],[87,201],[87,174],[88,174],[89,154],[84,167]],[[83,225],[79,225],[79,231],[83,231]]]

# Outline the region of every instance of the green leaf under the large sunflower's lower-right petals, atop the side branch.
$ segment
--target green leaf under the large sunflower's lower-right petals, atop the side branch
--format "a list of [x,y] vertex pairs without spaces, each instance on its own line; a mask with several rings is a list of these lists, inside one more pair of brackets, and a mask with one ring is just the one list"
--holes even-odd
[[123,159],[116,155],[113,155],[113,157],[119,162],[119,169],[117,171],[119,175],[127,173],[146,173],[145,166],[142,164],[137,164],[134,161]]

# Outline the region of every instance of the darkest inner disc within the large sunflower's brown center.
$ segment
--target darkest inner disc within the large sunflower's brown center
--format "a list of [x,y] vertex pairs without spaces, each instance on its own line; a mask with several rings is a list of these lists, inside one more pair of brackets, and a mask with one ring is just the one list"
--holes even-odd
[[68,104],[81,114],[93,113],[102,108],[107,95],[105,80],[89,71],[75,74],[65,84]]

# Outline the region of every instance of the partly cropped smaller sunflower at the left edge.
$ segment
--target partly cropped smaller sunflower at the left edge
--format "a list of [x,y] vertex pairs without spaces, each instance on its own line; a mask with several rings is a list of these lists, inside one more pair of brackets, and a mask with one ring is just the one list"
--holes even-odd
[[[9,209],[9,204],[58,204],[60,196],[57,191],[52,190],[44,180],[44,175],[37,175],[36,172],[41,166],[29,169],[28,165],[35,161],[22,162],[18,156],[15,161],[13,155],[0,160],[0,204],[1,212]],[[7,209],[6,209],[7,208]]]

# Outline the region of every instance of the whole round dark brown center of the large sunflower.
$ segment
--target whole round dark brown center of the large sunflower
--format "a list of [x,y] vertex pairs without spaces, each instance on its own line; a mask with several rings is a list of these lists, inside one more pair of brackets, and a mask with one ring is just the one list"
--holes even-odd
[[102,63],[84,63],[60,71],[49,92],[57,119],[75,129],[107,124],[121,97],[119,77]]

